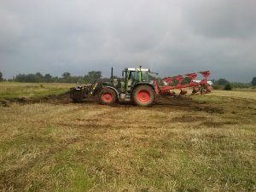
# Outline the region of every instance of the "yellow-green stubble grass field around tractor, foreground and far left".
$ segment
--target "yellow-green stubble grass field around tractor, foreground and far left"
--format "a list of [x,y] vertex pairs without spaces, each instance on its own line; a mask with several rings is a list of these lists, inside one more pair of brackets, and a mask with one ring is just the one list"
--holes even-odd
[[[29,85],[42,96],[40,84]],[[24,96],[8,86],[0,84],[0,98]],[[44,96],[68,90],[43,86]],[[255,127],[255,90],[161,99],[152,108],[9,102],[0,107],[0,189],[255,191]]]

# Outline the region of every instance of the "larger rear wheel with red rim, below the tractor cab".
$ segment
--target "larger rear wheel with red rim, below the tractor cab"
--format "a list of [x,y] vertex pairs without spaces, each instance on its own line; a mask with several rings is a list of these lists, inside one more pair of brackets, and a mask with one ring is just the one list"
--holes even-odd
[[148,107],[154,102],[154,90],[149,85],[138,85],[132,98],[138,106]]

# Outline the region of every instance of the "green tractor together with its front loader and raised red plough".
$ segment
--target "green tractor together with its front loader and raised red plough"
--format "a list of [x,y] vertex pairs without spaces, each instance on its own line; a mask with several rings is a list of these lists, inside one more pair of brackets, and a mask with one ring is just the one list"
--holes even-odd
[[[207,83],[210,75],[209,71],[201,72],[204,79],[195,82],[196,73],[186,75],[189,82],[182,84],[184,77],[177,75],[175,77],[166,77],[161,79],[164,85],[160,86],[158,80],[154,79],[155,73],[150,69],[142,68],[125,68],[122,72],[123,80],[113,79],[113,68],[110,79],[98,79],[90,85],[73,87],[70,89],[70,96],[73,102],[82,102],[84,98],[97,96],[98,101],[104,105],[113,105],[117,102],[134,102],[137,106],[148,107],[152,105],[156,96],[168,95],[176,96],[174,89],[180,90],[178,96],[187,93],[184,88],[192,87],[192,94],[200,92],[201,94],[210,92],[212,86]],[[156,73],[157,74],[157,73]],[[171,85],[175,81],[175,85]]]

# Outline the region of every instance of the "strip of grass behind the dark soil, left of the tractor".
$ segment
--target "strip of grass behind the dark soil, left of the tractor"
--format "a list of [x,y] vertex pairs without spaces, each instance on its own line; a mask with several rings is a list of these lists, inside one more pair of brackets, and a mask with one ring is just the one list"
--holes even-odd
[[0,82],[0,100],[65,93],[73,84]]

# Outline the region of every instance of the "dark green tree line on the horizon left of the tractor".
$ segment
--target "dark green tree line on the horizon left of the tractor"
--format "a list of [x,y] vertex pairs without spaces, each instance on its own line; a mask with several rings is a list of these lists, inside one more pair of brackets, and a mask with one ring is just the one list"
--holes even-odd
[[24,83],[79,83],[86,84],[102,78],[101,71],[90,71],[84,76],[73,76],[69,72],[62,73],[61,77],[52,76],[49,73],[19,73],[13,79],[3,79],[3,73],[0,72],[0,81],[13,81]]

